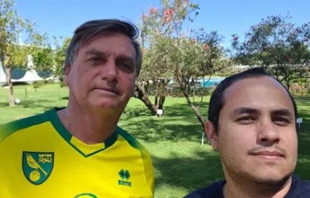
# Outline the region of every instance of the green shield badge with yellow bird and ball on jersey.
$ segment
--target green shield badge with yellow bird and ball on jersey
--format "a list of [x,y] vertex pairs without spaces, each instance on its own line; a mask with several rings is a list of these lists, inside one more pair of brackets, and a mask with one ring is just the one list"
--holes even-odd
[[34,185],[40,185],[47,180],[53,165],[53,152],[22,152],[22,171]]

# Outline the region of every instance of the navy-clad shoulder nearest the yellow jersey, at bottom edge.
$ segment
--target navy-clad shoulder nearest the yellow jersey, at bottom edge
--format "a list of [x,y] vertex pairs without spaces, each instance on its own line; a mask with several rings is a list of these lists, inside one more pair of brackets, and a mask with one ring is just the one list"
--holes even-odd
[[226,180],[220,180],[216,181],[212,185],[209,185],[208,187],[204,187],[200,190],[195,190],[185,198],[200,198],[200,197],[205,197],[205,198],[212,198],[212,197],[217,197],[217,198],[224,198],[222,188],[224,184],[226,183]]

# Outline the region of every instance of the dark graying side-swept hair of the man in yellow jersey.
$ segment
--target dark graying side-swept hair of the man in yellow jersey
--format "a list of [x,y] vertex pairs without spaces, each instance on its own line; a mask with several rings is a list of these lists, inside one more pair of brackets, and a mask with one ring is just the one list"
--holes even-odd
[[78,27],[74,31],[74,36],[67,48],[64,68],[70,67],[73,64],[81,46],[87,44],[90,39],[102,34],[102,32],[109,31],[126,34],[126,36],[129,37],[135,48],[136,75],[139,76],[142,64],[141,48],[139,42],[136,40],[139,35],[139,30],[130,22],[114,19],[90,20]]

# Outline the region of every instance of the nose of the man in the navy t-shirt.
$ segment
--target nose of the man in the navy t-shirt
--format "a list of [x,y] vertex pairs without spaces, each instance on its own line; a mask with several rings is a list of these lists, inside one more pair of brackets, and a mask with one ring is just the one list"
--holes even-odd
[[271,119],[259,121],[257,124],[257,143],[263,146],[271,146],[279,141],[280,136]]

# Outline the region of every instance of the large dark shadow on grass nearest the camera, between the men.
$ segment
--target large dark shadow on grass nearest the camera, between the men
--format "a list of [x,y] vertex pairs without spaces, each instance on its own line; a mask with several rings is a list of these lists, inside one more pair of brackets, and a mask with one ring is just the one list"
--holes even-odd
[[[156,189],[168,185],[191,192],[224,178],[217,152],[194,152],[193,156],[195,159],[178,156],[169,159],[152,157],[156,168]],[[186,194],[182,194],[184,195]]]

